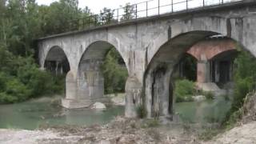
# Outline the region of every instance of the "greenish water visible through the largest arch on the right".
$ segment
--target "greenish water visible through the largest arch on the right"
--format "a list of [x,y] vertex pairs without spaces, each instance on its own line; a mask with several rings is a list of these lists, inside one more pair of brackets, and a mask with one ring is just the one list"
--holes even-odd
[[202,102],[180,102],[174,105],[175,113],[183,122],[222,122],[231,108],[231,102],[219,97]]

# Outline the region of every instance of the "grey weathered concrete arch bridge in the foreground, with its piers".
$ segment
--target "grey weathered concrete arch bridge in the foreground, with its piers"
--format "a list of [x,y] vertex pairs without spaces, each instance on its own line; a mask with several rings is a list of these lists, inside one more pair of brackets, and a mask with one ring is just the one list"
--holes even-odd
[[204,38],[221,34],[256,56],[256,1],[206,6],[158,17],[139,18],[38,39],[39,62],[70,64],[62,106],[80,108],[104,101],[100,66],[114,46],[121,54],[126,81],[126,117],[142,104],[148,117],[173,113],[172,74],[182,54]]

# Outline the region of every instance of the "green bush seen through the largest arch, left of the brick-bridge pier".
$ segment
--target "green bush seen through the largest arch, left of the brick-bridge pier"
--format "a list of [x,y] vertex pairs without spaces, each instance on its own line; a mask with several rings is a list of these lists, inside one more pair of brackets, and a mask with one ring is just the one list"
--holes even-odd
[[196,93],[194,82],[187,79],[177,80],[175,82],[174,96],[176,102],[191,102],[192,96]]

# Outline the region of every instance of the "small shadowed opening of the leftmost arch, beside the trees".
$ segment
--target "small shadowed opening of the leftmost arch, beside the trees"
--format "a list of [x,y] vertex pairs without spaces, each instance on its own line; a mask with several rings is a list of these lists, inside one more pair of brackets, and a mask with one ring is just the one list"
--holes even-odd
[[70,71],[70,62],[60,46],[52,46],[43,62],[46,70],[54,74],[67,74]]

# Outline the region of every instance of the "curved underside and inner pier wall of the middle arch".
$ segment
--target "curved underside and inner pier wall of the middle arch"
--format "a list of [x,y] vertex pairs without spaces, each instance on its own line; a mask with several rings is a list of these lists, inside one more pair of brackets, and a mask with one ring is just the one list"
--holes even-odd
[[[102,64],[106,54],[111,49],[118,51],[123,63],[128,67],[117,47],[106,41],[96,41],[90,44],[83,52],[78,64],[78,99],[88,99],[92,102],[104,102],[104,76],[102,74]],[[90,102],[91,103],[91,102]]]

